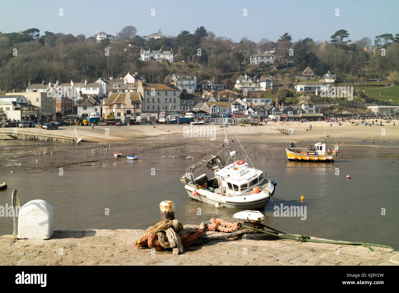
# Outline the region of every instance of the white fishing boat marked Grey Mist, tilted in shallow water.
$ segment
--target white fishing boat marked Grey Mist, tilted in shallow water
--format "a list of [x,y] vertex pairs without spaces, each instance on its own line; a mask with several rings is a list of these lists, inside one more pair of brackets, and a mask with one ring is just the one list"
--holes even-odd
[[[250,210],[265,207],[277,183],[270,181],[267,171],[255,168],[248,157],[249,162],[237,160],[228,138],[225,142],[230,151],[227,161],[231,163],[226,165],[216,154],[191,165],[180,178],[186,192],[192,199],[215,206]],[[210,171],[195,175],[204,166]]]

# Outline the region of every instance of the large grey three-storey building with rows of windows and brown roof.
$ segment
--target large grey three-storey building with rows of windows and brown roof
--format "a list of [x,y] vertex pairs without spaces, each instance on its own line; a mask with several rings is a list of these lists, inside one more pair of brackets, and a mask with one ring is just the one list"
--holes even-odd
[[142,111],[180,110],[180,88],[175,85],[138,82],[143,97]]

